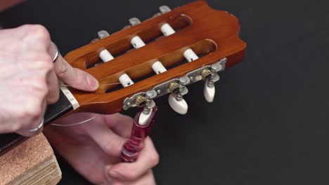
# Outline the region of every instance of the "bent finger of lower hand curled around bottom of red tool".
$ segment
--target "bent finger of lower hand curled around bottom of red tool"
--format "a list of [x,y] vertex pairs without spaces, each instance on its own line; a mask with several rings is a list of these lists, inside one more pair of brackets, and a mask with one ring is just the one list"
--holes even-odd
[[159,156],[150,137],[145,139],[145,147],[134,163],[118,163],[108,172],[110,177],[121,181],[132,181],[141,177],[159,163]]

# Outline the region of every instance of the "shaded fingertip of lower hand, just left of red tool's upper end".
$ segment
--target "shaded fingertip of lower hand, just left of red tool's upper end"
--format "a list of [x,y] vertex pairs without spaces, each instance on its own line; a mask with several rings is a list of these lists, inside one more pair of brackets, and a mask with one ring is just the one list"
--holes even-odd
[[104,120],[108,128],[113,130],[117,135],[122,137],[130,137],[131,128],[134,123],[133,118],[123,114],[104,115]]

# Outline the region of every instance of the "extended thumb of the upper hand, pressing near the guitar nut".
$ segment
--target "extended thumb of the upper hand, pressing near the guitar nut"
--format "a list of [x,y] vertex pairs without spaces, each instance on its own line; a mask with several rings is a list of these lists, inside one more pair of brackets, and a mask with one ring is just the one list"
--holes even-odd
[[73,88],[86,91],[98,89],[99,83],[96,78],[81,69],[72,67],[61,55],[58,55],[55,62],[55,73],[60,80]]

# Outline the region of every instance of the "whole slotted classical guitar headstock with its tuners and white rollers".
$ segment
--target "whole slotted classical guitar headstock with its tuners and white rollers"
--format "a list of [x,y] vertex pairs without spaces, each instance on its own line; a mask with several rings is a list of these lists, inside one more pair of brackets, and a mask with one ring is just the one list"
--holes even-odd
[[[112,114],[169,95],[171,107],[185,114],[186,85],[205,81],[205,98],[212,102],[217,72],[237,64],[245,55],[238,19],[215,11],[205,1],[160,13],[98,39],[65,56],[67,62],[89,72],[100,82],[94,93],[69,88],[79,107],[75,111]],[[154,105],[154,104],[153,104]]]

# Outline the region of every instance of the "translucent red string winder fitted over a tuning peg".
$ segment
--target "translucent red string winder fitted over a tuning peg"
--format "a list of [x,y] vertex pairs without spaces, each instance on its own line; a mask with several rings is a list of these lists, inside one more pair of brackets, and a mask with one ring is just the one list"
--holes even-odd
[[140,116],[143,114],[143,109],[140,109],[134,118],[134,124],[131,130],[130,139],[124,144],[121,152],[122,162],[131,163],[138,158],[138,154],[141,151],[141,144],[148,136],[150,129],[155,121],[155,114],[157,113],[157,107],[153,107],[148,116],[148,120],[143,125],[140,124]]

